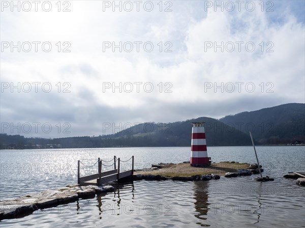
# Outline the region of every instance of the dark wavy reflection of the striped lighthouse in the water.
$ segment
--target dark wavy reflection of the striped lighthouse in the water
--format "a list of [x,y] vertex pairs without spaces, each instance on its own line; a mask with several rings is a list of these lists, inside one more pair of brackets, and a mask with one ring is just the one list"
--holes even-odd
[[[207,219],[207,212],[210,209],[208,203],[208,181],[196,181],[194,182],[194,199],[195,209],[197,214],[195,217],[201,220]],[[196,222],[201,226],[210,226],[205,222]]]

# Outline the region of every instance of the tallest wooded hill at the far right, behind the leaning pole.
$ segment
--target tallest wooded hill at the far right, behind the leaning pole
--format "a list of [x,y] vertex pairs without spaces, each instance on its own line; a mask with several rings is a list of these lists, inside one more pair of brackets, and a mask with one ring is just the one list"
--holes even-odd
[[305,142],[305,104],[289,103],[226,116],[219,121],[242,132],[253,132],[261,144]]

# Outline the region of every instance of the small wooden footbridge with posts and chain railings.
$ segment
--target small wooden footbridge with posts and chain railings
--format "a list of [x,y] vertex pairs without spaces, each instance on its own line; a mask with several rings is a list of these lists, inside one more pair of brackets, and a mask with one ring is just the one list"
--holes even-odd
[[[124,170],[122,169],[122,163],[127,163],[131,160],[131,169]],[[112,162],[110,165],[109,162]],[[103,163],[104,162],[104,163]],[[91,174],[88,176],[80,177],[80,165],[83,165],[85,167],[93,167],[98,163],[98,173]],[[107,183],[110,181],[119,181],[120,179],[129,177],[133,175],[134,172],[134,156],[132,156],[127,161],[121,161],[120,158],[114,158],[110,161],[103,161],[100,158],[98,158],[98,161],[93,166],[86,166],[84,165],[80,160],[77,161],[77,183],[80,185],[102,185],[103,183]],[[105,172],[102,172],[104,167],[113,167],[112,170],[108,170]]]

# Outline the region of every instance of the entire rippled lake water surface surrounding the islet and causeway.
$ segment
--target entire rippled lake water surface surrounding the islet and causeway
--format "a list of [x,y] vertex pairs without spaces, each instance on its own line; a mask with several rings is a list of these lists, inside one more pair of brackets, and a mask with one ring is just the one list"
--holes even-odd
[[[283,178],[305,171],[305,147],[257,146],[264,175],[220,180],[134,181],[117,185],[114,193],[81,199],[32,215],[0,222],[1,227],[305,227],[305,187]],[[1,199],[18,197],[77,182],[77,160],[92,166],[100,157],[121,160],[135,156],[135,168],[151,163],[190,159],[189,147],[1,150]],[[208,147],[214,162],[254,163],[251,146]],[[107,163],[111,164],[111,162]],[[129,162],[125,168],[129,168]],[[82,175],[93,173],[82,167]]]

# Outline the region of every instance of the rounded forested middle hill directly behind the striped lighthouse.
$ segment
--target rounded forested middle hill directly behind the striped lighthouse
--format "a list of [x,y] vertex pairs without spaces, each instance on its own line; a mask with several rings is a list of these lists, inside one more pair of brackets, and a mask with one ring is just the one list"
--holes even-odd
[[[116,134],[102,136],[103,139],[120,139],[127,146],[189,146],[192,136],[192,122],[205,122],[207,145],[250,145],[249,135],[207,117],[174,122],[144,123]],[[124,143],[123,143],[124,144]]]

